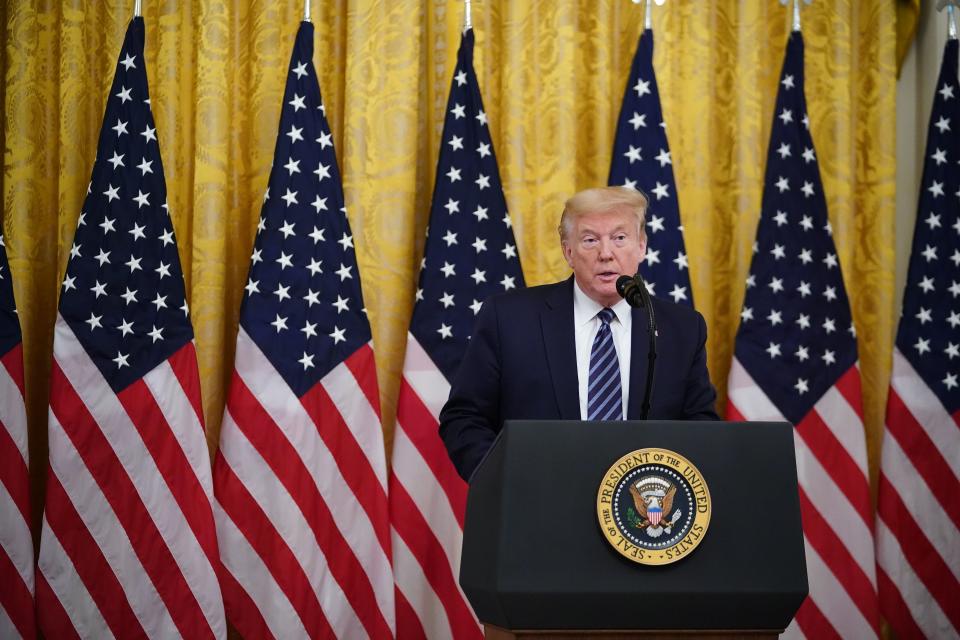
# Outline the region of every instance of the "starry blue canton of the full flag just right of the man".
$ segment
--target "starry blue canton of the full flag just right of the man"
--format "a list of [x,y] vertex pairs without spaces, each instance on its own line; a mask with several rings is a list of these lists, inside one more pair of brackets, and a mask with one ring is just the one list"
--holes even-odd
[[803,39],[790,35],[770,133],[763,204],[736,357],[797,424],[857,361],[803,94]]

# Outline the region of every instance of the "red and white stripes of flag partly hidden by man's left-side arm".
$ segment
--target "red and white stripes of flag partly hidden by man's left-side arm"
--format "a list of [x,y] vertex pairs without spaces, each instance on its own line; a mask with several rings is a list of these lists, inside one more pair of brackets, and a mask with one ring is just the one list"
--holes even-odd
[[449,393],[450,384],[408,333],[390,477],[398,638],[482,637],[459,585],[467,485],[437,432]]

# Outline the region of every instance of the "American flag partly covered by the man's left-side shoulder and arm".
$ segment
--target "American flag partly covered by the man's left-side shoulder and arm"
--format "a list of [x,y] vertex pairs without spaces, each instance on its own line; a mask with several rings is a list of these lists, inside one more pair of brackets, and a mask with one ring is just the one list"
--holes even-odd
[[440,440],[438,418],[480,305],[524,282],[473,43],[467,30],[450,85],[397,403],[390,521],[399,638],[482,637],[458,582],[467,485]]

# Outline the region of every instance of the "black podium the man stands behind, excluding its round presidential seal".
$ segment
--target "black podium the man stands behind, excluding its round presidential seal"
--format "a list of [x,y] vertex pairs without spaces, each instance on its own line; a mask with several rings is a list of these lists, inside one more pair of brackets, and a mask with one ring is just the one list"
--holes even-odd
[[[628,560],[598,523],[607,471],[645,448],[709,487],[703,539],[673,564]],[[793,428],[507,422],[470,482],[460,584],[490,639],[773,638],[807,595]]]

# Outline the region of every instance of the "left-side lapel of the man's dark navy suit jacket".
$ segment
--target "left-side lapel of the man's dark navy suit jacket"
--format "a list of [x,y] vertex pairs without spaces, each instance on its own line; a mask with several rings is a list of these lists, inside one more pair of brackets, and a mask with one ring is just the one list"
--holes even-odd
[[558,283],[547,295],[540,313],[547,364],[563,420],[580,419],[580,387],[573,327],[573,277]]

